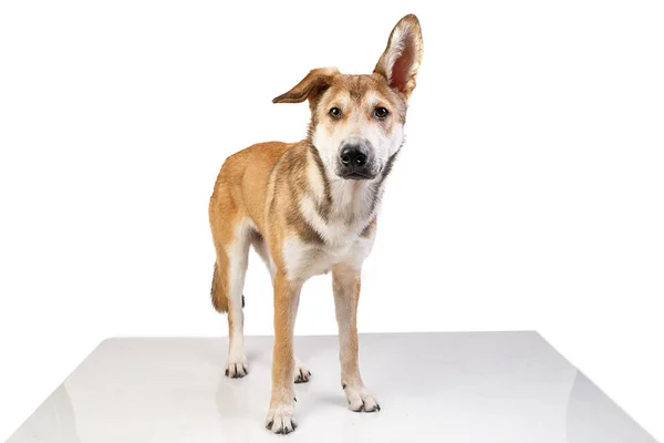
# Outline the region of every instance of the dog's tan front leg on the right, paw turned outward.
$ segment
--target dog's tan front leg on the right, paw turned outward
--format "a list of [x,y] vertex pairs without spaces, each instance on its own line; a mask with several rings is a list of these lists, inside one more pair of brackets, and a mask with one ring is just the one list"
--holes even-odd
[[357,302],[360,301],[360,269],[336,266],[332,269],[332,289],[339,324],[339,359],[341,385],[351,410],[375,412],[381,406],[366,390],[357,362]]

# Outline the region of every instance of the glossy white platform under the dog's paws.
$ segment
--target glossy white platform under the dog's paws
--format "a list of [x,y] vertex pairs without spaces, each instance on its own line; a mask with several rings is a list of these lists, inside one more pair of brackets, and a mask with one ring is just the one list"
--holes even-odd
[[298,337],[312,372],[299,427],[264,429],[272,338],[247,338],[249,375],[224,377],[225,339],[106,340],[8,443],[656,443],[536,332],[364,334],[378,413],[347,409],[336,337]]

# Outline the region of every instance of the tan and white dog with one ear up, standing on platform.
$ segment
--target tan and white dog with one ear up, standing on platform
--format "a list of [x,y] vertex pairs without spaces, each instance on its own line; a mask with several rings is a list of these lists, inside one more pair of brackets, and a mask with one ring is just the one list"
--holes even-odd
[[242,332],[245,275],[250,246],[266,262],[274,289],[272,394],[266,426],[295,430],[293,383],[311,373],[293,352],[300,290],[332,272],[339,324],[341,385],[350,409],[381,408],[357,363],[356,311],[362,262],[376,233],[385,178],[404,144],[408,99],[422,62],[419,21],[398,21],[373,73],[314,69],[273,103],[309,101],[307,138],[259,143],[229,156],[210,197],[216,250],[211,299],[228,313],[226,375],[248,373]]

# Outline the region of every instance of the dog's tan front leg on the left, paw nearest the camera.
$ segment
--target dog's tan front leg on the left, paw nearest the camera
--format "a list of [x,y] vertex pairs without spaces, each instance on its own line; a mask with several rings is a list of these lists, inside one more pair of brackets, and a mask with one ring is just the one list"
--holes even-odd
[[293,327],[301,288],[302,282],[290,281],[283,272],[276,274],[272,400],[266,425],[276,434],[288,434],[298,426],[293,404]]

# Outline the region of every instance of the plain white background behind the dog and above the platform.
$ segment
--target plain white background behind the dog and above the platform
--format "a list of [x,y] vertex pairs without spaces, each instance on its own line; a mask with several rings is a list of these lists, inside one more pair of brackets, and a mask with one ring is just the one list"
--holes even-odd
[[[307,106],[271,99],[369,73],[407,12],[425,56],[361,331],[537,329],[664,439],[662,2],[322,4],[0,3],[0,440],[104,338],[226,334],[219,166],[300,140]],[[255,256],[245,293],[271,333]],[[297,332],[335,328],[313,279]]]

